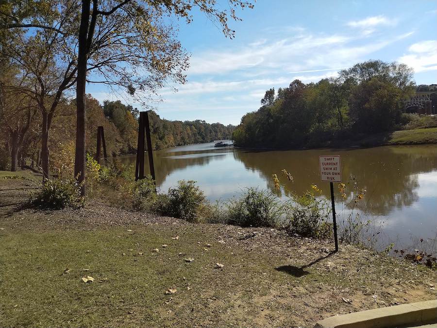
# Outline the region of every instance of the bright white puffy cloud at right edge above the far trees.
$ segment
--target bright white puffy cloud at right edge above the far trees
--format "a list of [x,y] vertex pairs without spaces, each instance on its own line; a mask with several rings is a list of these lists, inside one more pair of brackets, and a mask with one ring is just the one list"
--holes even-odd
[[398,61],[422,72],[437,70],[437,40],[426,40],[412,44],[409,53],[404,54]]

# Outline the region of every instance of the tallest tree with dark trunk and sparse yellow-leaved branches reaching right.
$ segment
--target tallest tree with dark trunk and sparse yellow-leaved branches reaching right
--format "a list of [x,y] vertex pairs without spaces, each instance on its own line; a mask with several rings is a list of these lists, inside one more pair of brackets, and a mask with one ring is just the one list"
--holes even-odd
[[244,0],[229,0],[229,11],[218,9],[216,0],[92,0],[92,5],[91,0],[81,2],[75,159],[75,174],[79,174],[80,181],[84,179],[85,167],[87,71],[97,68],[101,80],[96,82],[123,86],[132,95],[155,93],[168,79],[184,83],[188,57],[172,26],[162,23],[163,18],[182,17],[189,23],[190,13],[197,7],[218,23],[226,36],[233,37],[235,31],[228,26],[228,17],[239,19],[235,7],[253,6]]

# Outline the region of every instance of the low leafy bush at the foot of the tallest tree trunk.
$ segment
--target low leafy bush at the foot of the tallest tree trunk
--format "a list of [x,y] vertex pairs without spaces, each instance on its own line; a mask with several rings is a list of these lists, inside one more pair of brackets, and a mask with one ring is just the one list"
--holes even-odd
[[38,208],[61,209],[84,205],[81,185],[75,179],[47,179],[32,204]]

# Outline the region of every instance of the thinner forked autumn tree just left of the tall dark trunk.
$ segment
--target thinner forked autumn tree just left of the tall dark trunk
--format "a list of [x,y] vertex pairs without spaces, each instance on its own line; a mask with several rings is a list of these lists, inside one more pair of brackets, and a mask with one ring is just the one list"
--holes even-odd
[[[11,85],[36,104],[41,117],[43,177],[49,176],[49,132],[64,92],[76,81],[78,5],[72,0],[11,0],[0,3],[1,30],[8,35],[1,55],[10,58],[22,78],[34,83]],[[76,18],[75,18],[76,17]]]

